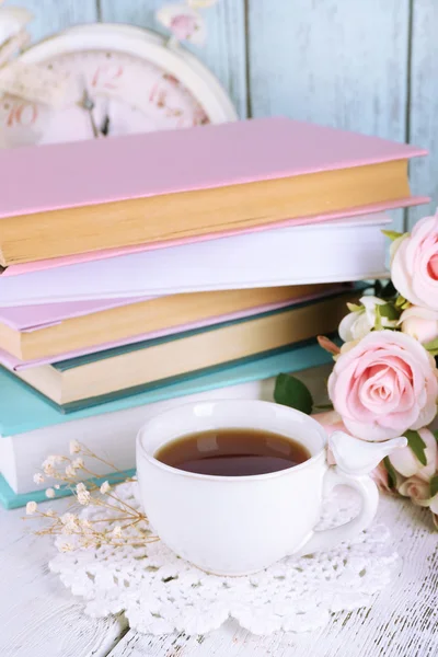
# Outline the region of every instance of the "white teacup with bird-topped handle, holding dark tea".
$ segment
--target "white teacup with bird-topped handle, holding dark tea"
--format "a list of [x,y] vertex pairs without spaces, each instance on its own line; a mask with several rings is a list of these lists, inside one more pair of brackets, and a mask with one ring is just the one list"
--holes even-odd
[[[175,438],[238,427],[290,437],[304,445],[311,458],[287,470],[251,476],[196,474],[154,459],[157,451]],[[358,474],[346,472],[347,468],[328,466],[324,429],[292,408],[247,400],[172,408],[150,419],[137,438],[145,511],[171,550],[217,575],[247,575],[287,555],[328,550],[366,529],[374,517],[378,488],[364,469],[371,470],[382,456],[405,445],[403,438],[388,441],[384,447],[364,445],[341,433],[338,436],[337,462],[345,463],[354,451],[351,472]],[[362,463],[364,454],[367,463]],[[314,531],[324,495],[338,484],[359,492],[359,515],[341,527]]]

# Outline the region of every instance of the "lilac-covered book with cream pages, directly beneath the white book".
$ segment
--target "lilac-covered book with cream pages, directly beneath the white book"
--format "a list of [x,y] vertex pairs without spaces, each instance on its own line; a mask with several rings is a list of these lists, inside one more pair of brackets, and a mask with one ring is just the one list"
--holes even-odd
[[[217,323],[222,316],[254,314],[257,309],[270,310],[295,300],[328,295],[336,288],[338,284],[297,285],[169,295],[141,301],[0,308],[0,349],[20,360],[34,360],[104,345],[110,348],[117,343],[140,342],[148,333],[172,333],[189,324]],[[62,359],[67,357],[70,354]]]

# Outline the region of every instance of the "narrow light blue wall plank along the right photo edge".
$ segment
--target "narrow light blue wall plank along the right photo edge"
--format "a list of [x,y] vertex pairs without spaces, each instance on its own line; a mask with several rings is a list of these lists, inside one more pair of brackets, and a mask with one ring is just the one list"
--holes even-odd
[[412,16],[410,140],[429,150],[411,164],[413,188],[433,197],[429,206],[408,211],[408,227],[438,205],[438,3],[416,0]]

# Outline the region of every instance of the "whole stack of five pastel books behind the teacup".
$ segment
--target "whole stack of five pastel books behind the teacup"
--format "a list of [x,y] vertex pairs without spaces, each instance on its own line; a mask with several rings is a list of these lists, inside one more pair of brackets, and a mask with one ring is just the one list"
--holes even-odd
[[151,414],[327,362],[422,154],[286,118],[0,152],[0,502],[71,439],[131,471]]

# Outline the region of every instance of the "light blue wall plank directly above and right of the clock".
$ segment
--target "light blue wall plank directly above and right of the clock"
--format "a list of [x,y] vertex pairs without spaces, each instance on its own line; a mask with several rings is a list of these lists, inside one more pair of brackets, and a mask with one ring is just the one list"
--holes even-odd
[[[163,0],[101,0],[103,21],[125,22],[163,33],[154,12]],[[243,0],[221,0],[201,10],[207,21],[204,47],[187,46],[219,79],[231,95],[241,118],[246,112],[245,26]]]

